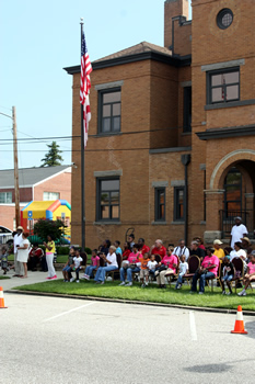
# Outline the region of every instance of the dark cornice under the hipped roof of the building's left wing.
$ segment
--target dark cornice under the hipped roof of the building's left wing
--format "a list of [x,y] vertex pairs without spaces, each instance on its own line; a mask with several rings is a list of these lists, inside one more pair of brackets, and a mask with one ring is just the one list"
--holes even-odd
[[[105,59],[101,61],[93,61],[92,68],[93,70],[103,69],[107,67],[119,66],[123,64],[130,64],[141,60],[155,60],[164,64],[169,64],[174,67],[186,67],[192,64],[192,55],[187,56],[170,56],[160,54],[157,52],[142,52],[140,54],[132,54],[127,56],[115,57],[111,59]],[[80,74],[81,66],[72,66],[63,68],[69,75]]]

